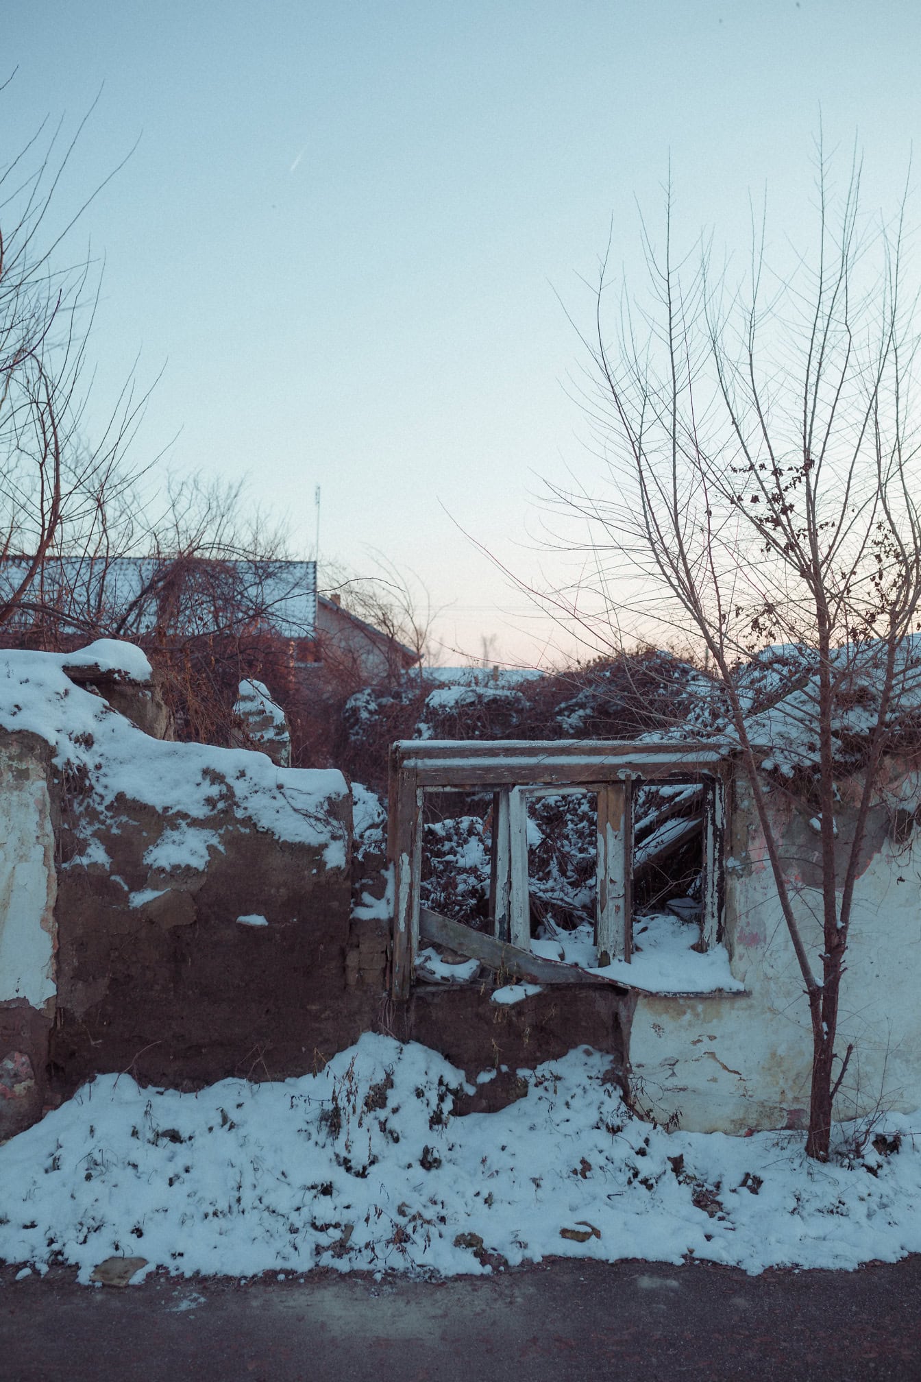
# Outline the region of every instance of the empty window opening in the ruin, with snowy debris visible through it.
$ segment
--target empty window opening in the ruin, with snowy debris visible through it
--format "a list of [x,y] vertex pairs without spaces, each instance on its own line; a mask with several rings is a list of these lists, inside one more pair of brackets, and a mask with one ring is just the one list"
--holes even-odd
[[712,948],[724,799],[710,746],[396,745],[395,992],[420,940],[539,983],[588,983],[587,970],[646,949],[659,965],[666,949]]

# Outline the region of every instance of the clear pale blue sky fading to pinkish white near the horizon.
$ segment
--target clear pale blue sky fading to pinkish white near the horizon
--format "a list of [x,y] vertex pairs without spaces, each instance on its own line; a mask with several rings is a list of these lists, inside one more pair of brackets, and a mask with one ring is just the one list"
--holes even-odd
[[75,240],[106,258],[98,415],[138,350],[141,381],[166,363],[141,457],[178,431],[173,466],[249,471],[297,554],[322,484],[320,558],[380,547],[452,605],[447,647],[496,633],[527,661],[551,630],[449,515],[540,579],[537,477],[595,474],[555,292],[587,314],[612,216],[637,264],[634,199],[657,214],[670,153],[689,238],[744,253],[765,187],[795,232],[819,112],[892,205],[921,7],[33,0],[4,7],[0,57],[4,159],[104,83],[61,216],[141,135]]

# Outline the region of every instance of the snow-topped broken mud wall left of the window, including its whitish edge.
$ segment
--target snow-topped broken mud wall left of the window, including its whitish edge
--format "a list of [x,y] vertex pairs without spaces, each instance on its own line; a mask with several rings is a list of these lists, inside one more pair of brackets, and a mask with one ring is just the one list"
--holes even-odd
[[[57,1093],[97,1071],[279,1077],[370,1025],[382,965],[373,999],[345,985],[342,775],[152,738],[73,654],[3,658],[0,1136],[48,1074]],[[76,661],[149,698],[138,650]]]

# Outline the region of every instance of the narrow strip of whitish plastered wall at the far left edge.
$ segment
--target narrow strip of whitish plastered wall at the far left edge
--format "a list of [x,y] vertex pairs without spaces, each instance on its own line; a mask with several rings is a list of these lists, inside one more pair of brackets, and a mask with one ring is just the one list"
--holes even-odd
[[54,824],[48,750],[0,741],[0,1139],[41,1113],[54,1019]]

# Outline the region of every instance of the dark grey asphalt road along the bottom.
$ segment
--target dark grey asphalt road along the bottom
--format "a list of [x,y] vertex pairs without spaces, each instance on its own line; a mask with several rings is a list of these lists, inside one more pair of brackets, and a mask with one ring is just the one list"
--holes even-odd
[[551,1262],[492,1278],[77,1287],[0,1269],[3,1382],[921,1379],[921,1258],[853,1273]]

